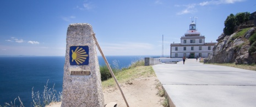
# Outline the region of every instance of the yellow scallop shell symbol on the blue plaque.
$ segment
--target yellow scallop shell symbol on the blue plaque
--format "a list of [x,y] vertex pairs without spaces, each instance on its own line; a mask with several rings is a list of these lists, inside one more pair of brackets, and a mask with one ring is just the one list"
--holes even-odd
[[77,65],[84,63],[86,57],[88,57],[88,54],[83,48],[77,47],[75,51],[72,50],[72,62],[75,61]]

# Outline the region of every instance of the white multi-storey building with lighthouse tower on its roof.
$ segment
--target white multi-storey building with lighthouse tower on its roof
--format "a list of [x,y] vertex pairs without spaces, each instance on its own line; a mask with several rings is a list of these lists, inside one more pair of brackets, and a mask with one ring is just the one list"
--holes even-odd
[[192,21],[189,30],[181,37],[181,43],[171,43],[171,58],[206,58],[212,52],[215,43],[205,43],[205,37],[197,32]]

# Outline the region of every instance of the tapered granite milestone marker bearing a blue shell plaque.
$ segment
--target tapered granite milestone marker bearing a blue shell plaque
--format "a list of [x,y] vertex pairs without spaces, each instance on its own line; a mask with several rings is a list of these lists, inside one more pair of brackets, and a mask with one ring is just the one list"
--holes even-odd
[[104,106],[96,44],[90,24],[70,24],[67,31],[62,105]]

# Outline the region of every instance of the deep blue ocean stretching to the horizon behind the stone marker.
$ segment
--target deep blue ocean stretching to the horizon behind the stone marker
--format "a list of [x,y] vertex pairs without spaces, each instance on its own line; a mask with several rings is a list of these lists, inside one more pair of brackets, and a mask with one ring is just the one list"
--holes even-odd
[[[128,67],[132,62],[156,56],[106,56],[111,66],[119,69]],[[105,65],[99,56],[99,65]],[[1,56],[0,57],[0,105],[14,103],[21,99],[24,106],[33,106],[32,87],[34,92],[43,92],[48,81],[48,88],[55,85],[62,92],[64,57],[35,57],[35,56]],[[19,102],[16,99],[15,102]]]

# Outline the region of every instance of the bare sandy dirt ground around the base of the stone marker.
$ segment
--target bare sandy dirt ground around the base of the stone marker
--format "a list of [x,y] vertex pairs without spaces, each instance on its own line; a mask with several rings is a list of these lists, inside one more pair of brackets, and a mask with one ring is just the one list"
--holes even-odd
[[[137,78],[129,83],[121,85],[122,91],[129,106],[162,106],[161,102],[164,97],[157,96],[157,77]],[[105,104],[116,102],[118,107],[126,106],[122,94],[119,89],[105,88],[104,91]],[[49,107],[60,107],[61,103],[52,104]]]

